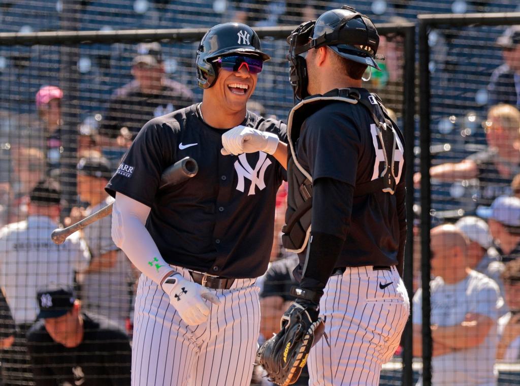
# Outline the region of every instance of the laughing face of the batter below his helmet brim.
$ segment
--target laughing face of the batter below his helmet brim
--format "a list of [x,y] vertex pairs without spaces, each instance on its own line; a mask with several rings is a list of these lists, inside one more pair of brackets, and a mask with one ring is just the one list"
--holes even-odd
[[241,66],[237,71],[218,68],[218,76],[210,88],[204,90],[207,95],[224,110],[238,112],[245,110],[256,87],[258,74],[249,72],[247,66]]

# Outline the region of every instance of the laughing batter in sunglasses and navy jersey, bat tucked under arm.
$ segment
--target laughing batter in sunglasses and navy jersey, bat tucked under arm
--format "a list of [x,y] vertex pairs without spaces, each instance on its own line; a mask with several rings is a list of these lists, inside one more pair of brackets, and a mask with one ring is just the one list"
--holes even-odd
[[[142,272],[133,385],[249,385],[255,278],[269,262],[287,162],[285,125],[246,109],[268,59],[247,25],[207,31],[196,64],[202,103],[142,127],[107,185],[112,238]],[[163,170],[186,156],[198,174],[159,189]]]

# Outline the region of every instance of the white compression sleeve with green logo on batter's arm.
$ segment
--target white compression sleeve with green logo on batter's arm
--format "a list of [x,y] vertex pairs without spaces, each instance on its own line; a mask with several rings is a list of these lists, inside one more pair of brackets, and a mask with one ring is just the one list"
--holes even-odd
[[112,208],[112,240],[139,271],[160,286],[175,269],[164,261],[145,227],[149,213],[147,205],[116,193]]

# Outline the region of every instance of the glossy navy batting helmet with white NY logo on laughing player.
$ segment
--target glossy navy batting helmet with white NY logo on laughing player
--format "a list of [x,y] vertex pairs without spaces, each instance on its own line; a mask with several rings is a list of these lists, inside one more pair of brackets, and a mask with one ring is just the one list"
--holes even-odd
[[256,32],[242,23],[224,23],[210,28],[202,38],[197,50],[197,82],[201,88],[210,88],[217,79],[213,59],[232,54],[242,54],[269,60],[262,52]]

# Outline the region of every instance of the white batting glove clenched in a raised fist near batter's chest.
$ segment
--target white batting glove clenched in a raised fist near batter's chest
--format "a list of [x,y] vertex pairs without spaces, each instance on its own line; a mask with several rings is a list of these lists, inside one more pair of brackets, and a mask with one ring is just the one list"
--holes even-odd
[[223,156],[238,156],[241,153],[263,151],[274,154],[280,139],[276,134],[256,130],[252,127],[237,126],[222,135],[220,150]]

